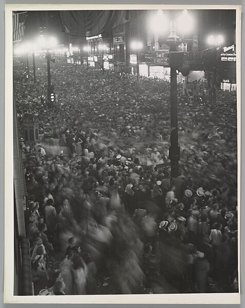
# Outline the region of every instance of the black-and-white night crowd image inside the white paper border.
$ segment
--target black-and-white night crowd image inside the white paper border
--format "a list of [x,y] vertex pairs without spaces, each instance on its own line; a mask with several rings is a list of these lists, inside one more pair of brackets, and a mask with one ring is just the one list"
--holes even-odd
[[125,8],[12,11],[14,296],[239,293],[237,8]]

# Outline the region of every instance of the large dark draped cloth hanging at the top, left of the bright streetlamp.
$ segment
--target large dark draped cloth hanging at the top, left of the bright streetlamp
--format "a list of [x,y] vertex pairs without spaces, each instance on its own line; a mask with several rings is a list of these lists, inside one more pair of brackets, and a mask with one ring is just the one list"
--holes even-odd
[[70,35],[92,36],[110,33],[129,20],[128,10],[60,11],[63,31]]

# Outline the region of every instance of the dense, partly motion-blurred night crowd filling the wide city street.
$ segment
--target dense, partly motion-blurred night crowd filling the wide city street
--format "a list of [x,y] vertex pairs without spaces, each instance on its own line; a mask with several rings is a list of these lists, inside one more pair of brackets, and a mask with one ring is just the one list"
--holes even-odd
[[20,133],[40,132],[21,135],[34,294],[237,292],[236,93],[179,85],[173,178],[168,82],[54,63],[49,106],[37,63],[33,84],[14,62]]

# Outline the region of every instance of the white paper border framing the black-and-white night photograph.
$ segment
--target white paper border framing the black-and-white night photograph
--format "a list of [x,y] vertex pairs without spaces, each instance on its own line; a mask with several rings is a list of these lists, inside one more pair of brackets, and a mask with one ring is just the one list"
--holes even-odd
[[[142,295],[65,295],[14,296],[14,220],[13,220],[13,64],[12,11],[50,10],[236,10],[236,78],[237,78],[237,160],[238,160],[238,293],[142,294]],[[240,5],[104,5],[104,4],[7,4],[5,5],[5,260],[4,303],[67,304],[239,304],[240,303],[240,196],[241,196],[241,6]],[[8,166],[8,168],[6,168]]]

